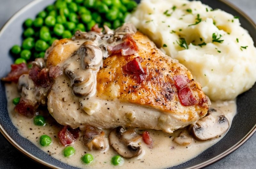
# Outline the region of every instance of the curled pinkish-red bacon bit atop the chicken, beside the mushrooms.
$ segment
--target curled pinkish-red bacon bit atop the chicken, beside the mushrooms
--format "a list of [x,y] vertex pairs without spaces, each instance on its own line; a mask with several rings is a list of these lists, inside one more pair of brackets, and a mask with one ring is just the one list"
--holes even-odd
[[110,54],[121,53],[123,56],[133,55],[138,52],[138,46],[131,36],[124,36],[124,42],[116,46],[108,46]]

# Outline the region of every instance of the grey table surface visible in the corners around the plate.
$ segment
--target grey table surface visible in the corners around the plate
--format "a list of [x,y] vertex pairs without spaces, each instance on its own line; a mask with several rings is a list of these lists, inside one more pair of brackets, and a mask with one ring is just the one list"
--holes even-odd
[[[0,0],[0,28],[21,7],[32,0]],[[230,0],[231,1],[231,0]],[[256,0],[232,0],[233,4],[256,22]],[[256,133],[236,151],[205,168],[256,168]],[[26,158],[0,134],[0,168],[39,169],[41,165]]]

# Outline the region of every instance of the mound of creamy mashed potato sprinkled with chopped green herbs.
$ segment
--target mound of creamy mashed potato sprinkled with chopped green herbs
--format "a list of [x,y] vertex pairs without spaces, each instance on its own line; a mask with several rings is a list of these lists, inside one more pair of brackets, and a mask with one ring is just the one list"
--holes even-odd
[[234,99],[256,81],[256,48],[239,19],[200,1],[142,0],[128,17],[201,82],[212,100]]

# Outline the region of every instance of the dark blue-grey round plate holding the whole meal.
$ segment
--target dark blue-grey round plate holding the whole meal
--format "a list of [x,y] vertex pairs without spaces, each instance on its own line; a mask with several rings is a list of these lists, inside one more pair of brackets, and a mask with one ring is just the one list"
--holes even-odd
[[[224,0],[201,1],[213,9],[220,8],[235,16],[239,16],[241,25],[249,31],[253,41],[256,42],[256,25],[242,11]],[[33,18],[38,11],[43,10],[48,4],[52,4],[53,2],[54,0],[36,0],[28,4],[16,13],[2,28],[0,32],[0,77],[6,76],[10,71],[13,58],[9,54],[9,49],[14,44],[21,44],[23,21],[26,18]],[[0,85],[0,93],[0,132],[15,148],[36,162],[51,168],[76,168],[52,158],[26,138],[20,136],[7,112],[7,101],[3,82]],[[237,98],[237,115],[226,136],[196,158],[173,168],[201,168],[225,157],[242,145],[256,130],[256,104],[252,104],[256,103],[255,96],[256,85],[249,91],[239,95]]]

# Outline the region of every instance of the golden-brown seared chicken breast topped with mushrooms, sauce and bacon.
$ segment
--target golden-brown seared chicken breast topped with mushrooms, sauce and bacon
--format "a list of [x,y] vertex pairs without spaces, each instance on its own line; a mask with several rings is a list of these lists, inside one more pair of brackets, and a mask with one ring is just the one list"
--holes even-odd
[[172,133],[208,110],[201,85],[187,68],[131,24],[56,41],[48,50],[51,66],[64,74],[54,79],[48,110],[73,128],[122,125]]

